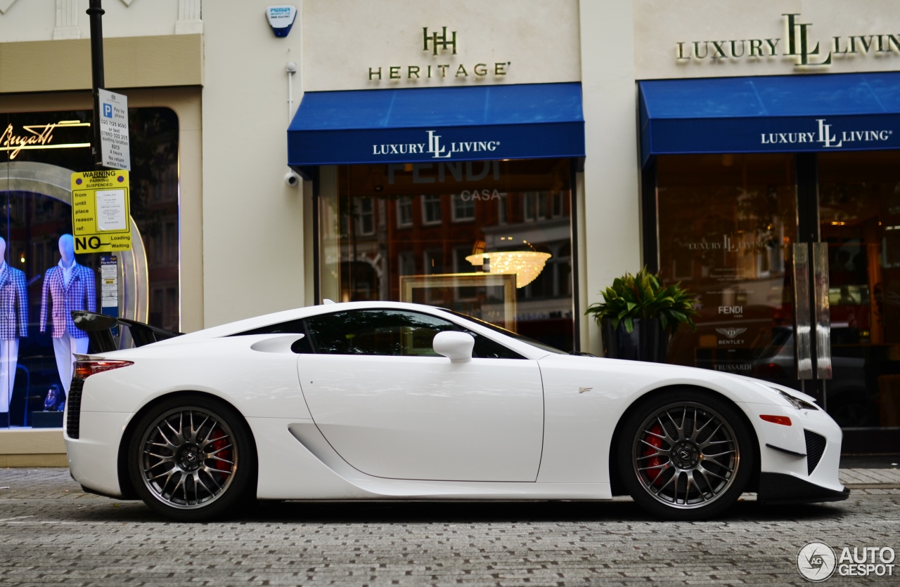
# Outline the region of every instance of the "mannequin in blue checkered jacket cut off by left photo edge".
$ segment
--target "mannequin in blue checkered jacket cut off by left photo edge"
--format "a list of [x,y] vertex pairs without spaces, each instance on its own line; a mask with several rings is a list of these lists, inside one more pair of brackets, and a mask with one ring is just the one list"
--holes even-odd
[[25,274],[6,263],[6,241],[0,237],[0,425],[9,425],[19,339],[28,336],[28,289]]

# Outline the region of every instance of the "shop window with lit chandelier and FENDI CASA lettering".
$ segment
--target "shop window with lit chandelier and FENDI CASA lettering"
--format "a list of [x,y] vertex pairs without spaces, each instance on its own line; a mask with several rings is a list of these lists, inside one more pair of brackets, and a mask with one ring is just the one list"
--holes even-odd
[[320,292],[446,307],[573,348],[568,159],[340,165]]

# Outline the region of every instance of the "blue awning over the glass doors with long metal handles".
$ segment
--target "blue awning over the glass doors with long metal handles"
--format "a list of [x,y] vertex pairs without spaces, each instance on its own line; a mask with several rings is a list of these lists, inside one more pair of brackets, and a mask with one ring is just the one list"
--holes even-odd
[[641,152],[900,148],[900,73],[640,82]]

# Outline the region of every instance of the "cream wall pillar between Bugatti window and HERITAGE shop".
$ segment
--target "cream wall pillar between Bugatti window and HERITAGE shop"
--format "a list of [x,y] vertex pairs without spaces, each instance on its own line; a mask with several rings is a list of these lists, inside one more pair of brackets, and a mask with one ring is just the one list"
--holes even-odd
[[[288,61],[302,27],[276,39],[271,0],[203,3],[203,295],[205,325],[300,307],[302,190],[284,184]],[[294,100],[301,99],[300,81]],[[296,105],[296,104],[295,104]]]

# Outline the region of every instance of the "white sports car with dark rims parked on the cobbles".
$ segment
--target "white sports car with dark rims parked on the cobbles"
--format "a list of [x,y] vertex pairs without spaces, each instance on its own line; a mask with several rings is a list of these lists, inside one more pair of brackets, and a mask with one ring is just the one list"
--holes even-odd
[[304,307],[79,356],[85,491],[176,520],[261,500],[608,500],[705,519],[743,492],[846,499],[812,397],[721,372],[564,353],[445,309]]

